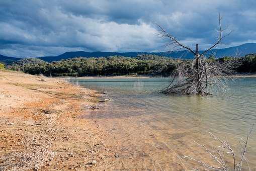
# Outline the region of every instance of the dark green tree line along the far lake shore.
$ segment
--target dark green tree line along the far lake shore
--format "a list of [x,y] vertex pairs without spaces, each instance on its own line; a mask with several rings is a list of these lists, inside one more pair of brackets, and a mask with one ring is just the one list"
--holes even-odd
[[[248,54],[242,58],[213,56],[208,60],[236,60],[240,63],[236,72],[256,72],[256,55]],[[8,65],[8,69],[23,71],[29,74],[46,76],[88,76],[88,75],[131,75],[150,74],[168,76],[178,64],[189,60],[173,59],[156,55],[139,55],[135,58],[123,56],[110,57],[77,57],[55,62],[45,62],[37,58],[25,58]]]

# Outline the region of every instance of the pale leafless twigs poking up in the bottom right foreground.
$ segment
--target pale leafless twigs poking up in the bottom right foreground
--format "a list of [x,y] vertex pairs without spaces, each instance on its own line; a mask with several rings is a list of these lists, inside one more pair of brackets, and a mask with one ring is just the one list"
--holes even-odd
[[[232,144],[229,143],[226,137],[219,138],[209,132],[214,141],[216,141],[215,146],[207,147],[208,145],[203,145],[198,142],[195,143],[202,147],[206,154],[209,154],[209,158],[212,160],[213,164],[195,157],[177,155],[180,160],[179,165],[185,170],[250,170],[250,166],[245,154],[248,149],[249,138],[253,131],[253,126],[254,124],[249,131],[247,130],[245,139],[241,138],[239,141],[241,148],[240,154],[237,152],[237,149],[232,147]],[[189,161],[196,164],[190,166],[187,164]]]

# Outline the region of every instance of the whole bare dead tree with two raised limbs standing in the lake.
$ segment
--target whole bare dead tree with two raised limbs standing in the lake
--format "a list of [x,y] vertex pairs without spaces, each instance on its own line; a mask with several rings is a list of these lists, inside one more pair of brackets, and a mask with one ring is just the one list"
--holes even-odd
[[159,35],[162,38],[167,38],[175,50],[187,49],[195,57],[192,61],[186,61],[177,64],[177,69],[173,72],[172,81],[168,87],[162,90],[164,94],[184,94],[184,95],[209,95],[209,89],[212,87],[226,88],[225,80],[223,76],[228,76],[232,73],[233,68],[237,64],[237,61],[222,61],[208,60],[204,55],[212,48],[217,46],[223,38],[231,34],[232,31],[224,34],[226,29],[221,25],[222,17],[219,15],[219,35],[218,40],[207,50],[202,53],[198,50],[198,44],[196,45],[196,51],[193,51],[190,47],[183,45],[176,37],[166,32],[160,25]]

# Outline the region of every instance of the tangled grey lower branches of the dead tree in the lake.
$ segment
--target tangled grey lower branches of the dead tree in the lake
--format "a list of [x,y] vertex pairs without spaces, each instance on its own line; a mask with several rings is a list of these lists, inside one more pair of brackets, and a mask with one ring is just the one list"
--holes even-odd
[[178,64],[169,85],[161,92],[200,96],[212,95],[214,91],[225,93],[228,90],[226,81],[232,79],[230,75],[234,73],[233,69],[239,65],[239,61],[211,61],[201,56],[198,66],[196,60]]

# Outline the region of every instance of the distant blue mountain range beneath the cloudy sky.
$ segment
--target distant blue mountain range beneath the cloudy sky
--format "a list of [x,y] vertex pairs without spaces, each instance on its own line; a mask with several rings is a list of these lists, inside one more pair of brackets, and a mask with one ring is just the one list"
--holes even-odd
[[[203,51],[200,51],[201,53]],[[256,53],[256,43],[246,43],[239,46],[233,46],[223,49],[212,49],[208,51],[205,56],[214,55],[216,57],[223,56],[233,56],[233,57],[242,57],[249,53]],[[59,61],[62,59],[74,58],[74,57],[107,57],[107,56],[126,56],[126,57],[136,57],[139,54],[151,54],[159,55],[173,58],[182,58],[182,59],[191,59],[193,54],[187,50],[174,51],[174,52],[85,52],[85,51],[76,51],[76,52],[65,52],[58,56],[42,56],[37,57],[47,62]],[[21,58],[8,57],[0,55],[0,62],[10,64],[11,62],[20,60]]]

